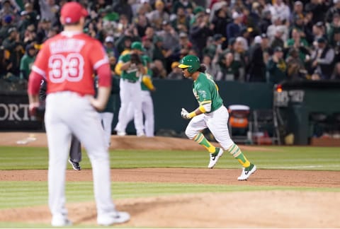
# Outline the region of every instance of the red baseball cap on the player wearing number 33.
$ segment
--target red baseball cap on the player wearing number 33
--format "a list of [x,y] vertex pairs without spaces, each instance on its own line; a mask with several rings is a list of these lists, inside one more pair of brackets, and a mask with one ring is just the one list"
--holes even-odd
[[77,23],[81,17],[86,17],[88,15],[89,13],[86,9],[76,1],[64,4],[60,13],[63,23],[65,24]]

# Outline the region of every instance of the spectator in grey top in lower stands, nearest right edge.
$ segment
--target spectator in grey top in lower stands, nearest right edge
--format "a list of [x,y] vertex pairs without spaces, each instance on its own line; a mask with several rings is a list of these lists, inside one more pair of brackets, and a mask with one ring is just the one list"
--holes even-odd
[[320,78],[329,79],[334,70],[334,49],[327,44],[324,37],[317,40],[317,49],[312,52],[312,68]]

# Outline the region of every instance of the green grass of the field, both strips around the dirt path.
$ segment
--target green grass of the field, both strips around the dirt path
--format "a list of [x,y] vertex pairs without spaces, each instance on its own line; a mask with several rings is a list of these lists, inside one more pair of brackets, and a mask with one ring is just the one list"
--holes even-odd
[[[263,146],[261,146],[263,148]],[[340,170],[340,148],[268,146],[266,151],[244,151],[261,170]],[[47,148],[0,147],[0,170],[47,169]],[[112,168],[205,168],[205,151],[111,151]],[[91,168],[83,154],[82,168]],[[68,165],[70,169],[71,166]],[[230,157],[218,168],[239,168]],[[0,180],[0,210],[47,204],[47,182]],[[114,182],[113,198],[126,199],[198,192],[249,192],[259,190],[300,190],[340,192],[339,188],[262,187],[246,185]],[[67,182],[67,201],[94,201],[92,182]],[[95,226],[95,225],[94,225]],[[0,222],[0,228],[46,228],[50,225]]]

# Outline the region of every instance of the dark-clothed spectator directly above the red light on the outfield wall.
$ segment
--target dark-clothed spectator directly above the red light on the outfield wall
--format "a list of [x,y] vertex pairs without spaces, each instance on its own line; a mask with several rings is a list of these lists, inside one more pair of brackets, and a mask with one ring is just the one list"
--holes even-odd
[[283,59],[283,49],[281,47],[274,48],[273,56],[269,59],[266,68],[269,74],[269,82],[280,83],[287,80],[287,64]]

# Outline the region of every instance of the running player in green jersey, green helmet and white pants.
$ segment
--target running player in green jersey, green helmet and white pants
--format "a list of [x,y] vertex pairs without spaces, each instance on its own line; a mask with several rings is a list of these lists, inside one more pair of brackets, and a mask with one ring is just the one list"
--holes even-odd
[[[213,168],[217,160],[223,155],[223,149],[228,151],[242,165],[242,174],[237,180],[247,180],[256,171],[256,165],[246,159],[239,146],[230,139],[228,130],[229,113],[223,105],[223,100],[218,93],[218,87],[212,76],[205,73],[205,65],[200,64],[200,59],[193,55],[188,55],[181,59],[179,68],[182,69],[183,76],[193,78],[193,94],[198,100],[199,107],[193,112],[188,112],[182,108],[183,119],[191,119],[186,127],[186,136],[193,139],[201,146],[204,146],[210,153],[208,168]],[[208,128],[220,143],[222,148],[212,146],[201,133]]]

